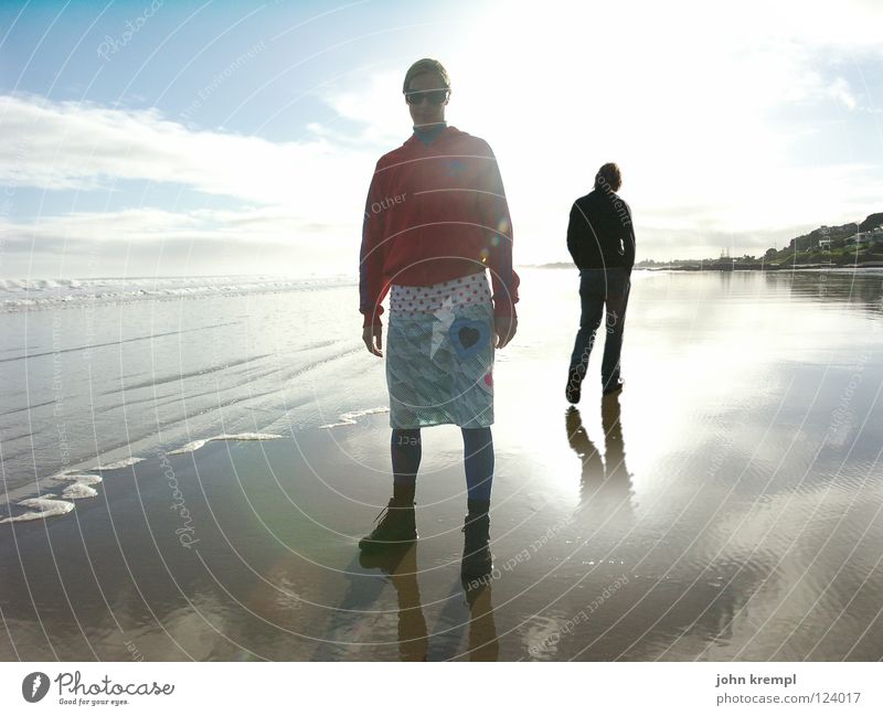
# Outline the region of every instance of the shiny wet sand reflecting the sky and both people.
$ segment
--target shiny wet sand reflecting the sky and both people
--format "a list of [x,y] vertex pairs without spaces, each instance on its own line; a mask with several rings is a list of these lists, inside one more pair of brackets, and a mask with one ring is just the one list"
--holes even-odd
[[391,483],[368,414],[158,453],[0,525],[0,659],[879,660],[879,289],[787,279],[641,276],[626,389],[578,409],[573,302],[524,304],[496,368],[486,584],[459,579],[451,426],[424,430],[419,541],[360,560]]

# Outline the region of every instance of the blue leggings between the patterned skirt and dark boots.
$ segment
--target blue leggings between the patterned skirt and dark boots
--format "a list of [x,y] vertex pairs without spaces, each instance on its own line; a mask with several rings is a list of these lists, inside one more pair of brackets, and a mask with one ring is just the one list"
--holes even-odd
[[[460,428],[460,431],[469,499],[489,501],[493,483],[493,437],[490,428]],[[419,428],[393,428],[390,448],[393,481],[398,485],[415,484],[423,455]]]

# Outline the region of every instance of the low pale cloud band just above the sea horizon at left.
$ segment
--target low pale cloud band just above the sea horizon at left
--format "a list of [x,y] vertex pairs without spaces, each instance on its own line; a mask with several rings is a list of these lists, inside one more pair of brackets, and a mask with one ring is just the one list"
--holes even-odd
[[359,228],[312,224],[272,206],[74,212],[31,223],[0,218],[0,268],[10,277],[354,275]]

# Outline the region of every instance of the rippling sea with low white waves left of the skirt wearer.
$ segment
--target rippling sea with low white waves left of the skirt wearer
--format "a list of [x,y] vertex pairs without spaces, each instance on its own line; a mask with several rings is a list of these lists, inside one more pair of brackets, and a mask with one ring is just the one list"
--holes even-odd
[[341,419],[357,311],[351,277],[0,281],[7,491]]

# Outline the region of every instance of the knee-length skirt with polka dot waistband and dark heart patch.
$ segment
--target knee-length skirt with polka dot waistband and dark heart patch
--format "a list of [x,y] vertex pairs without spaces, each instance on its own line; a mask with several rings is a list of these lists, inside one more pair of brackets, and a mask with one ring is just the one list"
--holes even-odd
[[390,290],[390,425],[493,425],[493,303],[487,274]]

